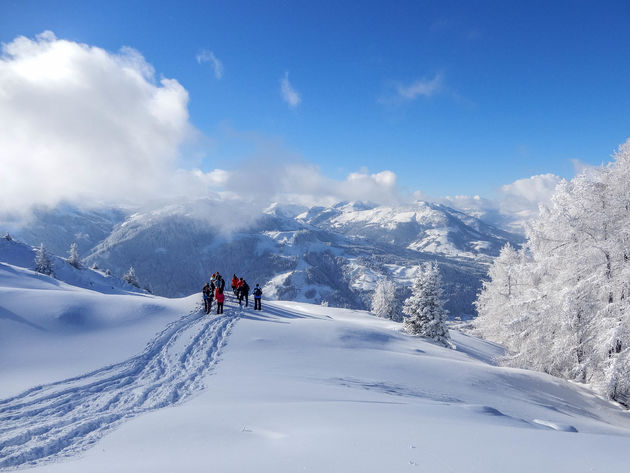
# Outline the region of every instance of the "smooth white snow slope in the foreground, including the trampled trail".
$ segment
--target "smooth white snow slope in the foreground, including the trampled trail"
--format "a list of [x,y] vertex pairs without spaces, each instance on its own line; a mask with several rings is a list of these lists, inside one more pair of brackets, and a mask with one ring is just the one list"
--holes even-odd
[[627,469],[630,413],[496,367],[492,344],[454,333],[447,350],[291,302],[206,316],[198,299],[104,295],[0,264],[1,468]]

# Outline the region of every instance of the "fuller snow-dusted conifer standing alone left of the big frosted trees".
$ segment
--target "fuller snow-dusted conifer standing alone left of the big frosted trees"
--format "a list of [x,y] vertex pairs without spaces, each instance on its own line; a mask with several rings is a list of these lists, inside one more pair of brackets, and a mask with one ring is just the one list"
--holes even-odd
[[452,347],[447,310],[442,289],[442,278],[437,263],[427,263],[413,283],[411,296],[403,303],[405,330],[412,335],[432,338],[445,347]]

